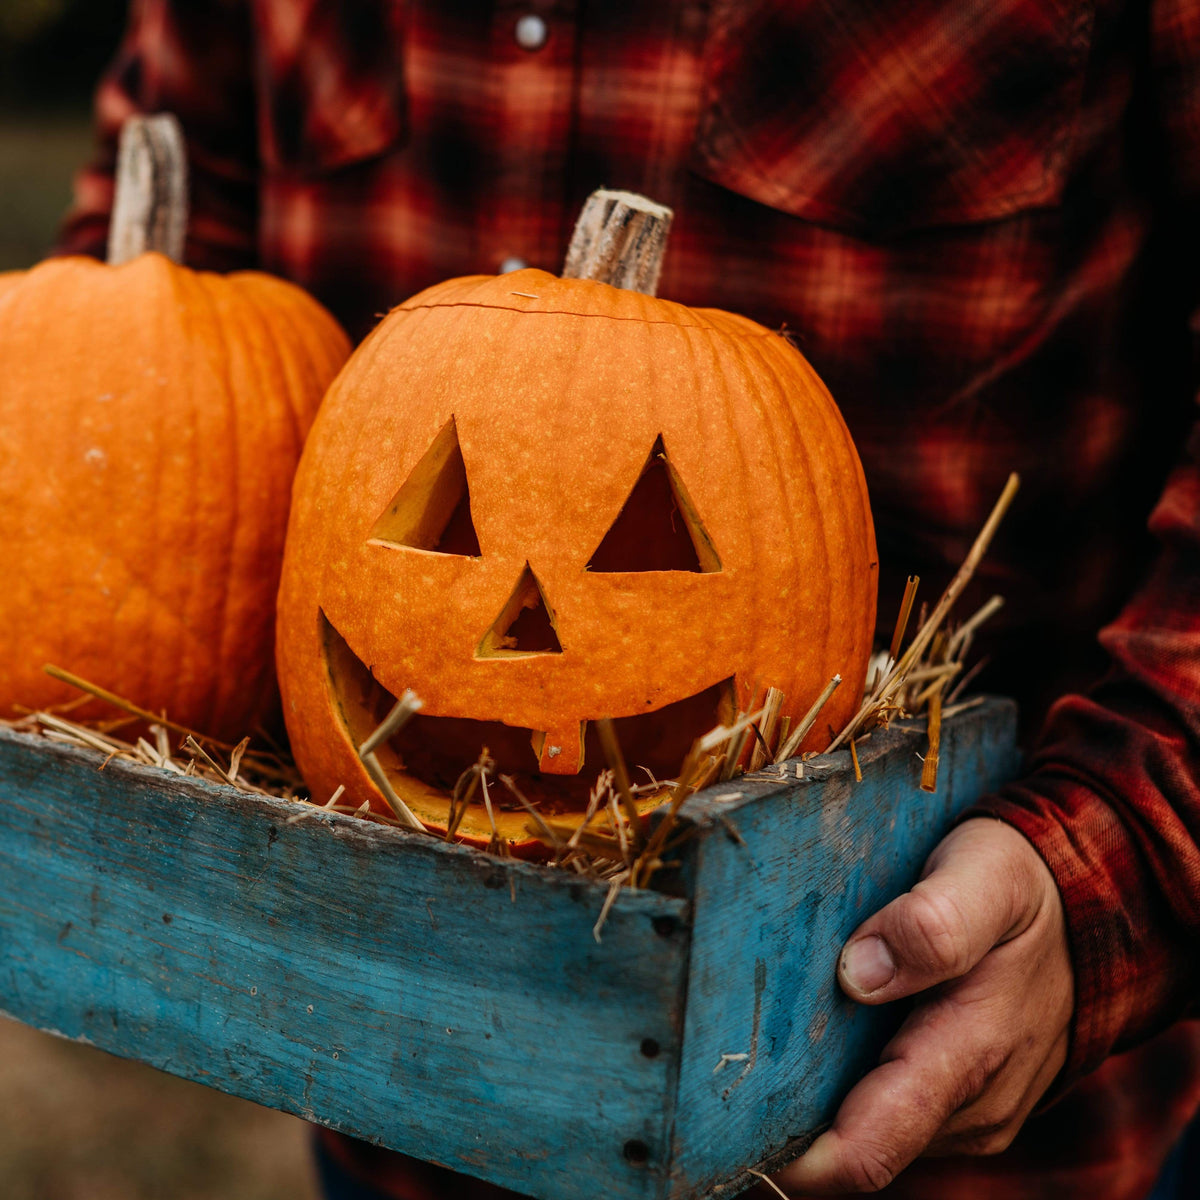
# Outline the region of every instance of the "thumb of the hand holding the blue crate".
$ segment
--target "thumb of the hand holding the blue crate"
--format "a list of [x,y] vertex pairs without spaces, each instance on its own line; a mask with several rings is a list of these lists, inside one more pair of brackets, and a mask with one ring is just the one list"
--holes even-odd
[[838,964],[842,991],[882,1004],[965,976],[1033,919],[1037,868],[1045,870],[1012,826],[984,818],[959,826],[930,856],[922,881],[851,935]]

